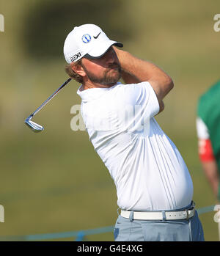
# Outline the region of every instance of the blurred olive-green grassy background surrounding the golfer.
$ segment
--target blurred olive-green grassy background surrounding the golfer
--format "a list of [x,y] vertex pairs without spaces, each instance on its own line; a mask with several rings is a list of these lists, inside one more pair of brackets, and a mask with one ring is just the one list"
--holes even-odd
[[[70,108],[81,102],[76,95],[79,84],[71,81],[40,111],[35,120],[45,126],[41,134],[32,133],[23,123],[67,78],[62,54],[65,36],[78,23],[87,23],[88,16],[122,41],[125,50],[157,63],[173,78],[175,88],[157,120],[188,165],[196,207],[215,204],[197,156],[195,120],[199,95],[219,78],[220,32],[213,30],[213,16],[220,2],[127,0],[118,4],[114,0],[111,8],[106,4],[99,11],[95,1],[87,5],[81,0],[84,15],[77,20],[81,10],[74,6],[79,0],[64,1],[64,10],[68,7],[73,15],[61,8],[59,23],[56,17],[50,20],[57,2],[0,0],[5,23],[0,32],[0,204],[5,211],[0,236],[89,230],[112,226],[117,219],[117,196],[108,170],[87,132],[70,129],[74,117]],[[40,4],[47,6],[46,12],[37,12]],[[38,16],[27,20],[34,10]],[[42,32],[34,29],[39,25]],[[25,34],[36,44],[30,44]],[[54,48],[59,51],[56,56],[51,54]],[[218,240],[213,215],[200,216],[206,241]],[[89,241],[113,239],[111,233],[88,237]]]

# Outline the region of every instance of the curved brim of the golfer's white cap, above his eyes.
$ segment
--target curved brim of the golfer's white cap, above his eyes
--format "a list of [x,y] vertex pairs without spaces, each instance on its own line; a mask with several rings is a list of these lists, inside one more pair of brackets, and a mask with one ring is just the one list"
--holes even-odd
[[115,42],[108,40],[107,42],[100,44],[98,48],[92,49],[92,51],[89,51],[88,54],[84,56],[84,58],[87,59],[99,59],[101,56],[106,54],[106,52],[109,50],[109,48],[112,45],[116,45],[117,47],[123,47],[122,43]]

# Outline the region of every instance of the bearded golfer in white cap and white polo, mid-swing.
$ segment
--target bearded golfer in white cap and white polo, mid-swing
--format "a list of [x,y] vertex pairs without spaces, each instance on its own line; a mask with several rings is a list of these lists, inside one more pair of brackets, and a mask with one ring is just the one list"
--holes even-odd
[[89,139],[117,189],[114,239],[204,241],[191,176],[155,120],[172,79],[118,47],[122,43],[94,24],[76,26],[64,45],[65,70],[81,83],[77,93]]

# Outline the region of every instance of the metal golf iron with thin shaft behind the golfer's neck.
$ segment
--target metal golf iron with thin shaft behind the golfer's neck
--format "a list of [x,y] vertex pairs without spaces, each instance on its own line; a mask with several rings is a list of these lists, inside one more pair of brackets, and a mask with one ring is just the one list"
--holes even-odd
[[68,82],[71,80],[71,78],[68,78],[67,81],[65,81],[65,83],[62,84],[61,87],[59,87],[58,89],[56,89],[56,91],[47,99],[45,100],[45,102],[40,105],[40,107],[38,109],[36,109],[29,117],[26,118],[25,120],[25,124],[32,129],[32,131],[34,131],[35,133],[39,133],[40,131],[43,131],[43,126],[42,125],[38,125],[36,122],[31,121],[32,117],[34,117],[35,114],[37,114],[37,112],[40,111],[40,109],[43,109],[43,107],[52,99],[54,98],[54,96],[63,88],[65,87],[66,84],[68,84]]

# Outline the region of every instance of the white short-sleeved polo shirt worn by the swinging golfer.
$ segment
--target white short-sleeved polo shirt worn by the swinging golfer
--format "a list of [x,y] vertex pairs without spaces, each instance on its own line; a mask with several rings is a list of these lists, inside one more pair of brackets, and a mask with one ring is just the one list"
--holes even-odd
[[119,207],[157,211],[189,205],[191,176],[154,118],[159,104],[151,85],[117,83],[110,88],[80,89],[81,115],[95,151],[114,180]]

